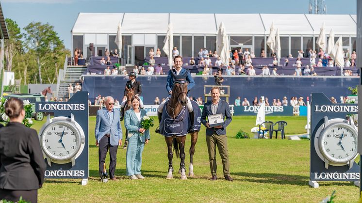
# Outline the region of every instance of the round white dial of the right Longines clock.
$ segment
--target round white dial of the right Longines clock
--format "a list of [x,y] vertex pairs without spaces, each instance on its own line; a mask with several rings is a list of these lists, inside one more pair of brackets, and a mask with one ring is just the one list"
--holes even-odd
[[322,132],[319,144],[327,159],[345,163],[357,155],[357,131],[344,123],[329,125]]

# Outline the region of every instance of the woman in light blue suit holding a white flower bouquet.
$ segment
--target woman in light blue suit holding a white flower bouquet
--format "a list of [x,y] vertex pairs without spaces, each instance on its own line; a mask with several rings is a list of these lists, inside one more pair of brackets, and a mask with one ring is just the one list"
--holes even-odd
[[141,175],[142,151],[150,139],[149,129],[140,128],[142,118],[146,116],[146,111],[139,108],[138,99],[138,97],[132,97],[132,108],[127,110],[124,116],[124,126],[128,130],[126,169],[127,175],[132,180],[144,179]]

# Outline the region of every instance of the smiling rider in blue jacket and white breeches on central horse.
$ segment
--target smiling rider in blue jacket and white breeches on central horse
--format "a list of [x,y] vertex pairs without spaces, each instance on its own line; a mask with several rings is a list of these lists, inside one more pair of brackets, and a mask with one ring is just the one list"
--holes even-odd
[[[172,87],[173,87],[175,79],[182,78],[182,77],[186,79],[186,81],[188,82],[187,92],[189,92],[195,86],[195,81],[191,77],[190,72],[181,67],[182,63],[183,63],[182,57],[175,56],[174,63],[175,63],[175,68],[172,70],[169,70],[168,74],[167,74],[166,90],[168,92],[168,97],[158,107],[157,117],[158,117],[159,123],[161,123],[161,120],[162,120],[162,111],[164,109],[165,102],[168,101],[172,95]],[[190,115],[190,122],[191,122],[191,127],[190,127],[189,132],[194,132],[194,120],[195,120],[194,109],[192,108],[192,104],[191,104],[191,101],[188,96],[187,96],[187,109],[190,112],[189,115]],[[160,133],[160,130],[158,128],[156,129],[156,133]]]

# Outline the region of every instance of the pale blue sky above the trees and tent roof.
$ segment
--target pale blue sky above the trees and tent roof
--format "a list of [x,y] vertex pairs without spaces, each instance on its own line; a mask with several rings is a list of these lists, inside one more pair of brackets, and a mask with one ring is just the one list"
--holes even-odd
[[[78,13],[280,13],[307,14],[309,0],[0,0],[20,28],[53,25],[67,48]],[[228,3],[226,5],[225,3]],[[325,0],[328,14],[356,14],[356,0]]]

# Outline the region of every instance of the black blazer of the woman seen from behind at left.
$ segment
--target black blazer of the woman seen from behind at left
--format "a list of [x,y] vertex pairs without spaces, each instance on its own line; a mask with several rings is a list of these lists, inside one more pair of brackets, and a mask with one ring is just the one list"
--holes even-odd
[[38,189],[46,167],[34,129],[17,122],[0,128],[0,189]]

